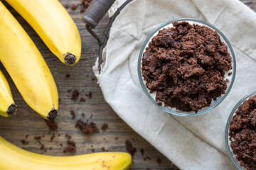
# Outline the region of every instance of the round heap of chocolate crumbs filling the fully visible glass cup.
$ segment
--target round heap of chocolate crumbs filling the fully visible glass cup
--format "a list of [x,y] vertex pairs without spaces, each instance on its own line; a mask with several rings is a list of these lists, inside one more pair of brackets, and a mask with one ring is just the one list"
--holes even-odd
[[232,57],[216,30],[174,21],[151,39],[142,76],[159,106],[198,112],[225,94]]

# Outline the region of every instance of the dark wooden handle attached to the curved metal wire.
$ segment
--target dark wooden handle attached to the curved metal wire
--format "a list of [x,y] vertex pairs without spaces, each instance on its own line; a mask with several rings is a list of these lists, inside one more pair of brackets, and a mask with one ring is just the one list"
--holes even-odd
[[85,14],[82,16],[82,20],[90,26],[95,28],[100,20],[105,16],[115,0],[92,0],[90,6],[88,6]]

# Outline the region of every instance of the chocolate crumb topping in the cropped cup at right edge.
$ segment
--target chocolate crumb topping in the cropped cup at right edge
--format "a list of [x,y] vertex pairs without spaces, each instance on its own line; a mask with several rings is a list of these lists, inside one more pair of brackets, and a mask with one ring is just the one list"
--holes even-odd
[[244,101],[230,121],[230,147],[235,159],[247,169],[256,169],[256,95]]

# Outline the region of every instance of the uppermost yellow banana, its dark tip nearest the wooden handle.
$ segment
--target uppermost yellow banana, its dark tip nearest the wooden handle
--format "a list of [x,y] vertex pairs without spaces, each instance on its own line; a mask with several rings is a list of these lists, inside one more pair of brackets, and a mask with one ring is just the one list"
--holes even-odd
[[36,30],[61,62],[73,65],[80,60],[80,33],[58,0],[6,1]]

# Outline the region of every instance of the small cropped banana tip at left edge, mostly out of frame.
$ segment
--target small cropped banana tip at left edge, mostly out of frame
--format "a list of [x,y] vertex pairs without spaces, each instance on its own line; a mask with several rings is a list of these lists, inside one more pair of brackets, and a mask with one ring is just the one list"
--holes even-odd
[[16,111],[17,106],[12,98],[11,89],[4,74],[0,71],[0,115],[9,117],[15,115]]

